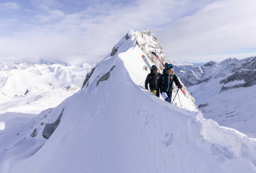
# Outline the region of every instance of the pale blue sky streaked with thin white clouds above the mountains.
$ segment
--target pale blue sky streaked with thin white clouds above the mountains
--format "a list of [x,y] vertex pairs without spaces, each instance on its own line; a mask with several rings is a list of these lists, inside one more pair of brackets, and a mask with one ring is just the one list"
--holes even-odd
[[172,61],[256,56],[256,0],[0,0],[0,60],[102,60],[128,30]]

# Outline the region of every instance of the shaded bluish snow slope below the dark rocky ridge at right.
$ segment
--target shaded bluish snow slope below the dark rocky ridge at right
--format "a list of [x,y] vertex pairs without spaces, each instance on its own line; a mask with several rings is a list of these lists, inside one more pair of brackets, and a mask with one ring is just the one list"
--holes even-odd
[[[220,79],[212,79],[207,83],[188,87],[196,99],[196,105],[207,104],[200,108],[207,119],[218,124],[235,128],[249,137],[256,138],[256,85],[226,90],[221,93]],[[232,82],[229,85],[242,83]],[[217,83],[217,84],[216,84]]]

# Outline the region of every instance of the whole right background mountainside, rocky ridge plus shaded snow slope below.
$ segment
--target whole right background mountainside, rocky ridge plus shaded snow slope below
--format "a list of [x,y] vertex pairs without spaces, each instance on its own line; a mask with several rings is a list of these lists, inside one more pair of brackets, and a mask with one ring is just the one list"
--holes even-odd
[[205,118],[256,138],[256,57],[211,61],[180,76]]

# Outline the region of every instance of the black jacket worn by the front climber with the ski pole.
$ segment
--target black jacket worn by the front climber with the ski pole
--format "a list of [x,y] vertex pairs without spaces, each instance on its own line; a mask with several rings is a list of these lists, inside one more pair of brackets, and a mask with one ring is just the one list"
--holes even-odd
[[173,81],[176,86],[179,86],[181,84],[179,79],[177,78],[177,75],[175,75],[175,74],[168,75],[168,73],[162,74],[158,78],[156,91],[159,92],[159,89],[160,89],[160,92],[166,92],[166,93],[172,92],[173,91]]

